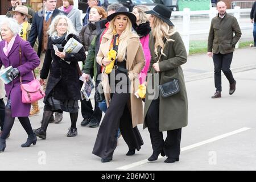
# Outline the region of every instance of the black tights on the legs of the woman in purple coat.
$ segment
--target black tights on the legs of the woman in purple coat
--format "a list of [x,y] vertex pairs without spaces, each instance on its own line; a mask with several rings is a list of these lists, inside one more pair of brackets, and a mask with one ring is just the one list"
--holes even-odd
[[[11,109],[5,108],[5,124],[3,125],[3,132],[1,135],[2,139],[6,139],[7,135],[10,133],[11,128],[13,127],[14,124],[14,119],[11,117]],[[30,119],[28,117],[18,117],[19,122],[22,124],[22,127],[24,130],[26,130],[28,135],[33,134],[33,130],[30,124]]]

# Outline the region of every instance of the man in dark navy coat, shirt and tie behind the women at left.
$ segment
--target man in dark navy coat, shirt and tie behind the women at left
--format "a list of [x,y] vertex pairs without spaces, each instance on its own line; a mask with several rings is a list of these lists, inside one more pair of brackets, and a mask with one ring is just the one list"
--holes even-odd
[[[48,35],[47,30],[49,25],[51,24],[51,20],[55,18],[56,15],[63,13],[56,9],[57,0],[44,0],[44,9],[38,11],[32,22],[32,27],[30,30],[30,35],[28,36],[28,42],[30,42],[33,47],[36,39],[38,38],[38,56],[40,57],[40,65],[39,71],[41,71],[44,63],[44,57],[46,55],[47,43],[48,43]],[[46,80],[47,84],[47,80]],[[46,85],[43,88],[46,89]],[[32,103],[32,110],[30,111],[30,115],[35,115],[35,113],[39,113],[38,102]],[[59,123],[62,120],[62,113],[55,113],[55,122]],[[54,122],[54,118],[52,118],[50,122]]]

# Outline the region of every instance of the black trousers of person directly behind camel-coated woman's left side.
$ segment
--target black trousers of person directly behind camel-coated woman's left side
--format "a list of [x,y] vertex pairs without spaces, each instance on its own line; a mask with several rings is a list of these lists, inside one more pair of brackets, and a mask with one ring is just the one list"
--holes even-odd
[[[93,72],[90,74],[91,77],[93,77]],[[96,82],[96,88],[97,88],[98,82]],[[90,118],[94,119],[95,122],[100,123],[101,122],[101,116],[102,116],[102,111],[100,110],[100,107],[98,107],[98,102],[96,102],[95,96],[94,96],[94,110],[92,106],[92,102],[81,100],[81,113],[82,113],[82,118]]]

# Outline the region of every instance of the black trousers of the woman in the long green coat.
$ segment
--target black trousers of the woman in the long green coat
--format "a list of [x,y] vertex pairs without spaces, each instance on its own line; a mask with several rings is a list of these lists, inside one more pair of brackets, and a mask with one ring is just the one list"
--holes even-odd
[[146,114],[146,124],[150,133],[152,149],[155,152],[164,151],[170,158],[179,158],[181,128],[168,130],[164,141],[163,133],[159,131],[159,98],[153,100]]

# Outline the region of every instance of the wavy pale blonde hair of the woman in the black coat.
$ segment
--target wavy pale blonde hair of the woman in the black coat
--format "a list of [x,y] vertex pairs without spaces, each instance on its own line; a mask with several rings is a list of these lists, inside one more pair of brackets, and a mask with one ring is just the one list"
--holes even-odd
[[67,38],[67,36],[69,34],[77,35],[77,32],[76,32],[75,27],[73,26],[73,23],[71,22],[71,20],[67,16],[65,16],[64,14],[60,14],[60,15],[55,16],[55,18],[52,20],[52,22],[51,22],[51,24],[49,26],[49,30],[47,31],[47,34],[50,37],[57,36],[56,27],[57,27],[57,24],[59,23],[60,19],[65,19],[66,22],[67,22],[67,35],[66,35],[66,38]]

